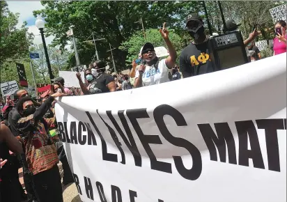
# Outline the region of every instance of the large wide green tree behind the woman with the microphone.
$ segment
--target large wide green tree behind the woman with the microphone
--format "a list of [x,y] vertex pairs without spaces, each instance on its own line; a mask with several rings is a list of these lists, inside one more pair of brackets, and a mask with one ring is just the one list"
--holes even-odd
[[[81,63],[88,64],[93,58],[93,45],[82,43],[91,40],[91,33],[96,38],[105,38],[97,42],[100,59],[111,62],[109,43],[114,49],[116,68],[125,68],[127,52],[118,47],[137,31],[141,30],[139,19],[142,17],[145,29],[158,29],[163,22],[177,28],[184,24],[184,17],[196,10],[195,1],[41,1],[45,9],[34,11],[34,15],[45,17],[46,33],[56,38],[53,45],[68,43],[65,35],[69,26],[75,26],[73,31],[77,38],[77,47]],[[179,26],[180,25],[180,26]],[[75,65],[75,57],[70,59],[70,65]]]

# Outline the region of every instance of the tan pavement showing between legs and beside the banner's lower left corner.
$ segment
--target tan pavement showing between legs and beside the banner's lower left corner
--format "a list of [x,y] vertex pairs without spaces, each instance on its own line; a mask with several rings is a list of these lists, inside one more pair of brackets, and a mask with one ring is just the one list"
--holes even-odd
[[[59,163],[58,166],[59,166],[61,178],[63,178],[62,164]],[[19,169],[18,173],[19,173],[19,180],[21,182],[21,185],[23,188],[25,188],[22,168]],[[62,189],[63,189],[63,199],[64,199],[63,202],[82,202],[81,199],[79,198],[79,194],[78,194],[75,183],[68,184],[65,186],[62,185]],[[22,201],[22,202],[27,202],[27,201]]]

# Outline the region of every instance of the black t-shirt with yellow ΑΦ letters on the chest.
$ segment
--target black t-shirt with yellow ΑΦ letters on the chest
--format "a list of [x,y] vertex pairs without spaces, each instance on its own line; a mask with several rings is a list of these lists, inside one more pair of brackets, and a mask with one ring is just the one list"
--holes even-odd
[[208,50],[208,41],[199,45],[189,44],[180,54],[180,72],[183,77],[192,77],[214,72]]

